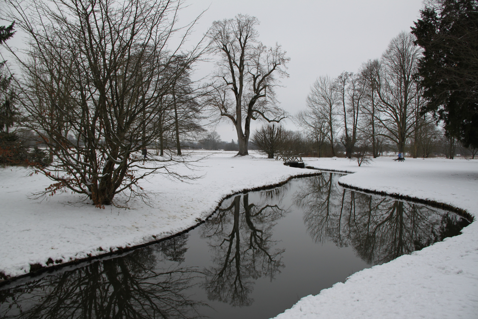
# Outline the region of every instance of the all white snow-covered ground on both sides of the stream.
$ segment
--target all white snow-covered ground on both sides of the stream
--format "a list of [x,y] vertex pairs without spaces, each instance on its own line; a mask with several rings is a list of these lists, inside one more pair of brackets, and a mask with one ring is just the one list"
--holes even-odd
[[[49,180],[26,176],[24,169],[0,169],[0,272],[22,275],[30,264],[46,265],[49,258],[66,262],[167,237],[204,219],[229,194],[313,172],[257,155],[232,155],[224,152],[202,161],[193,174],[204,177],[191,184],[150,177],[143,186],[159,193],[157,208],[133,202],[126,210],[69,204],[78,199],[72,194],[38,203],[27,196]],[[478,160],[407,158],[397,163],[385,157],[362,167],[342,158],[304,160],[319,169],[356,172],[340,178],[352,187],[443,202],[478,216]],[[477,225],[355,273],[345,283],[302,298],[276,318],[477,318]]]

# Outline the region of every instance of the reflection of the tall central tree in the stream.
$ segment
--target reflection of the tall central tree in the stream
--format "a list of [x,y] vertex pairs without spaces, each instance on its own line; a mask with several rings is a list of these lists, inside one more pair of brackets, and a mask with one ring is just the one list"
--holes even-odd
[[[256,204],[249,202],[249,194],[238,195],[204,224],[201,238],[208,240],[213,254],[213,266],[205,269],[203,284],[209,300],[249,306],[254,281],[261,276],[272,281],[280,273],[284,249],[274,249],[272,228],[288,212],[281,205],[285,190],[261,192]],[[272,200],[275,205],[267,204]]]

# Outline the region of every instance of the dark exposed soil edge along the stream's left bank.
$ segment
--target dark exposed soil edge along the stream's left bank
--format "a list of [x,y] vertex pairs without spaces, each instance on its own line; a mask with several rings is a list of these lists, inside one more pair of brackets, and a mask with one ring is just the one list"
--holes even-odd
[[[233,194],[230,194],[230,195],[222,198],[220,200],[220,202],[217,204],[216,208],[213,210],[213,212],[211,214],[209,214],[205,218],[205,220],[209,219],[217,211],[217,209],[221,206],[221,204],[223,203],[224,200],[226,200],[228,198],[231,198],[233,196],[236,196],[238,194],[247,193],[247,192],[251,192],[251,191],[268,190],[268,189],[272,189],[272,188],[276,188],[276,187],[280,187],[282,185],[285,185],[289,181],[291,181],[292,179],[295,179],[295,178],[319,176],[321,174],[322,174],[322,172],[298,174],[298,175],[290,176],[289,178],[287,178],[284,181],[279,182],[279,183],[265,185],[265,186],[261,186],[261,187],[244,188],[241,191],[234,192]],[[55,271],[55,270],[58,270],[60,268],[66,267],[66,266],[78,265],[78,264],[81,264],[81,263],[85,263],[85,262],[96,260],[96,259],[102,259],[102,258],[112,256],[112,255],[121,255],[123,253],[130,252],[130,251],[138,249],[138,248],[150,246],[150,245],[156,244],[158,242],[167,241],[167,240],[170,240],[170,239],[172,239],[174,237],[177,237],[177,236],[181,236],[182,234],[187,233],[187,232],[195,229],[196,227],[198,227],[199,225],[204,223],[205,220],[200,220],[196,225],[191,226],[191,227],[185,229],[184,231],[180,231],[178,233],[175,233],[175,234],[167,236],[167,237],[163,237],[161,239],[155,239],[155,240],[150,241],[150,242],[145,242],[145,243],[142,243],[140,245],[134,245],[134,246],[128,246],[128,247],[116,247],[117,250],[114,250],[114,251],[105,252],[105,253],[101,253],[101,254],[94,255],[94,256],[88,256],[86,258],[78,258],[78,259],[68,261],[68,262],[65,262],[65,263],[62,262],[62,261],[60,261],[60,262],[55,261],[54,262],[53,260],[49,259],[49,261],[51,261],[50,264],[53,264],[53,265],[46,266],[46,267],[42,266],[41,264],[30,264],[30,272],[27,273],[27,274],[24,274],[24,275],[15,276],[15,277],[8,277],[5,274],[0,272],[0,287],[4,286],[4,285],[8,285],[12,281],[15,281],[15,280],[20,279],[20,278],[36,276],[36,275],[40,275],[44,272],[51,272],[51,271]],[[154,235],[152,235],[151,237],[156,238],[156,236],[154,236]],[[102,251],[102,248],[99,247],[98,251]],[[47,264],[49,264],[49,263],[47,262]]]

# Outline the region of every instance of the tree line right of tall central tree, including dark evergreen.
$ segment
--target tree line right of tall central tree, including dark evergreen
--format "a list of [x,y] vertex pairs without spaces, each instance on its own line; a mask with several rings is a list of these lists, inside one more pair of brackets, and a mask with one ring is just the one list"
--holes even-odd
[[[375,158],[394,151],[414,158],[474,158],[478,4],[425,4],[412,33],[393,38],[380,59],[363,63],[357,72],[317,78],[306,108],[293,117],[307,142],[291,142],[291,132],[267,125],[254,133],[253,143],[269,157],[284,152],[341,156],[344,151],[348,158],[364,152]],[[308,147],[299,147],[304,144]]]

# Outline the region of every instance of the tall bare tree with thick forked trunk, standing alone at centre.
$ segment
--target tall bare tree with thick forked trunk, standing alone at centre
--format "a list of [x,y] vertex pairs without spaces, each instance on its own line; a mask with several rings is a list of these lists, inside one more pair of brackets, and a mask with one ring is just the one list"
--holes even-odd
[[256,17],[238,14],[213,22],[207,33],[211,51],[219,56],[209,103],[235,126],[238,155],[248,154],[251,120],[279,122],[286,117],[276,106],[274,86],[277,77],[289,76],[284,70],[289,58],[280,45],[259,42],[258,24]]

